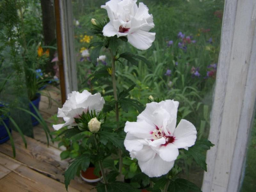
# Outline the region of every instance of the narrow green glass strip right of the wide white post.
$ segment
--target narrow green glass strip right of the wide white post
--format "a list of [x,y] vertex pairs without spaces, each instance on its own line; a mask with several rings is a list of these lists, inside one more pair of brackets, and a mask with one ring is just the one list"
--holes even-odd
[[250,139],[248,142],[245,172],[242,177],[241,192],[252,192],[256,189],[256,116],[254,117]]

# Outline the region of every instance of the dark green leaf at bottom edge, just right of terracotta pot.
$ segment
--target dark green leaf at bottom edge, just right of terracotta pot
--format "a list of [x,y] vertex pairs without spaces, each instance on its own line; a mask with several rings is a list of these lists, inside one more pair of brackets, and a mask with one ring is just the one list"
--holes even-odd
[[[106,184],[106,187],[108,189],[108,192],[141,192],[139,189],[132,187],[130,184],[120,181],[108,183]],[[100,184],[96,186],[96,188],[98,192],[105,191],[104,184]]]

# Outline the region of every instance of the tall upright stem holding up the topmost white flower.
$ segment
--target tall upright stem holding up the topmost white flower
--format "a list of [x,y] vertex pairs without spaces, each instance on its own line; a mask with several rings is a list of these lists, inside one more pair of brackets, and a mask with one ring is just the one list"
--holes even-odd
[[[119,122],[119,109],[118,109],[118,98],[117,98],[117,89],[116,89],[116,76],[115,76],[115,55],[113,55],[112,51],[111,52],[111,57],[112,57],[112,83],[113,83],[113,93],[114,93],[114,99],[116,101],[116,122]],[[118,124],[119,128],[119,124]],[[118,153],[119,153],[119,177],[118,180],[121,181],[122,179],[122,167],[123,167],[123,158],[122,158],[122,151],[120,148],[118,148]]]

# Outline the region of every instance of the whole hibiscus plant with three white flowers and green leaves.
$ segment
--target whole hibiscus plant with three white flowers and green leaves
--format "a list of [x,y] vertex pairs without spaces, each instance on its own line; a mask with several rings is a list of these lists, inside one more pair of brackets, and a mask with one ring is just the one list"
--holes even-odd
[[[152,46],[155,33],[153,15],[143,4],[135,0],[111,0],[101,8],[108,13],[109,19],[92,19],[92,30],[99,41],[91,43],[92,62],[97,62],[101,49],[111,55],[112,66],[103,66],[91,76],[91,81],[111,78],[112,96],[101,97],[100,93],[91,94],[73,91],[58,117],[65,123],[53,125],[60,130],[59,136],[67,140],[78,140],[78,152],[65,173],[66,188],[80,170],[86,170],[90,163],[96,166],[95,173],[102,174],[103,181],[96,186],[97,191],[201,191],[200,188],[178,178],[181,167],[177,158],[194,158],[206,171],[205,151],[213,144],[208,140],[197,140],[196,127],[181,119],[178,114],[178,101],[171,99],[154,100],[144,107],[138,100],[130,97],[128,89],[118,90],[115,66],[127,60],[138,65],[141,60],[150,67],[144,57],[131,53],[120,53],[122,41],[129,42],[139,50]],[[156,102],[157,101],[157,102]],[[137,121],[122,122],[122,113],[137,111]],[[177,115],[178,114],[178,115]],[[114,117],[113,117],[114,116]],[[68,142],[71,144],[71,142]],[[188,148],[189,147],[189,148]],[[132,170],[129,181],[124,180],[127,166]],[[131,176],[131,174],[130,174]]]

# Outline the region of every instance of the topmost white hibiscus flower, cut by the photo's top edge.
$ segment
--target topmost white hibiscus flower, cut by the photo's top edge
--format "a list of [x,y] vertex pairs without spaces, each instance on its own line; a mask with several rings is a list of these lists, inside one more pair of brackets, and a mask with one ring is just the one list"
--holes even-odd
[[153,16],[148,14],[148,8],[134,0],[111,0],[101,8],[108,11],[110,23],[103,28],[103,35],[112,37],[127,36],[128,42],[140,50],[151,47],[156,33],[150,33],[154,28]]

